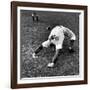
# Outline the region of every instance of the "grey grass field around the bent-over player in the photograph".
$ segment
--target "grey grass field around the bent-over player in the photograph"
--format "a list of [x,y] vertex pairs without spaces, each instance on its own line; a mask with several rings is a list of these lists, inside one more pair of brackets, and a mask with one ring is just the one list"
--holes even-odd
[[[37,12],[39,21],[33,22],[32,11],[21,11],[21,78],[68,76],[79,74],[79,14],[75,13],[50,13]],[[50,31],[47,26],[64,25],[70,28],[77,37],[74,43],[74,53],[69,53],[69,41],[66,38],[63,44],[63,51],[59,53],[58,60],[53,68],[47,64],[52,60],[55,53],[53,48],[44,48],[39,58],[33,59],[34,50],[48,39]]]

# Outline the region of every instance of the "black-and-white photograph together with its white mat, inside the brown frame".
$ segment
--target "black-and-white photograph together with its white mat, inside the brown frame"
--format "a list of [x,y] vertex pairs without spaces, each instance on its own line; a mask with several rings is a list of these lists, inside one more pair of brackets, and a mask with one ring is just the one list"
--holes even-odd
[[79,9],[17,7],[17,83],[83,81],[84,22]]

